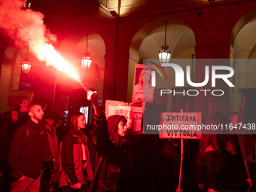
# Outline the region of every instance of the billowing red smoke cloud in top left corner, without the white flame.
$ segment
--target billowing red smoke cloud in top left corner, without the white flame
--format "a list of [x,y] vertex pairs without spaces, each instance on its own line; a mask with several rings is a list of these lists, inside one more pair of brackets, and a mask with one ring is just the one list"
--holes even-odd
[[0,0],[0,27],[11,38],[16,47],[26,47],[34,41],[50,44],[56,35],[46,30],[44,15],[31,9],[23,10],[24,1]]

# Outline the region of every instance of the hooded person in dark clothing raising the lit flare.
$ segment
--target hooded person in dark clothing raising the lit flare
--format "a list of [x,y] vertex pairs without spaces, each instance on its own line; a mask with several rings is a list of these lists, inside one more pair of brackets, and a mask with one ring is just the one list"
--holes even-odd
[[89,92],[88,100],[93,103],[94,144],[99,156],[89,191],[128,191],[130,184],[130,151],[127,140],[126,118],[112,115],[106,120],[100,110],[97,94]]

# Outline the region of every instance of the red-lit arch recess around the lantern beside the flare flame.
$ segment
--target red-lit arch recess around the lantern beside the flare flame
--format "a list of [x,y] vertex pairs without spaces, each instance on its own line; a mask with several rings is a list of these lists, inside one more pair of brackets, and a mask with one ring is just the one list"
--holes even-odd
[[[84,56],[87,47],[88,35],[88,52],[93,62],[88,71],[81,70],[81,57]],[[99,96],[103,93],[103,81],[105,75],[105,55],[111,54],[114,50],[113,38],[100,26],[88,27],[87,29],[78,29],[67,35],[59,45],[59,52],[69,62],[75,65],[82,81],[87,82],[88,87],[94,87]],[[62,81],[57,78],[56,81]],[[78,88],[78,84],[74,84]]]

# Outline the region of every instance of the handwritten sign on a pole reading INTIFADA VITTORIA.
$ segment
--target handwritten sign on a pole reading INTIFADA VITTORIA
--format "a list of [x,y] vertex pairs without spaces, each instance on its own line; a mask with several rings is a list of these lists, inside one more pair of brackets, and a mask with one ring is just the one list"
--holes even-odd
[[160,139],[201,139],[201,113],[161,113]]

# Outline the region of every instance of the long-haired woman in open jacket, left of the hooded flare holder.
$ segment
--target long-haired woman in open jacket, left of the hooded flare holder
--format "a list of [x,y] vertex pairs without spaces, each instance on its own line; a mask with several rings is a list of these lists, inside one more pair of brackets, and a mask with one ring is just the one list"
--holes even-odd
[[89,175],[92,178],[93,171],[90,166],[90,156],[87,148],[87,139],[80,132],[85,126],[85,117],[81,112],[75,112],[70,118],[69,131],[62,136],[59,145],[59,164],[61,174],[59,187],[62,192],[66,191],[87,191],[87,181],[84,169],[90,169]]

